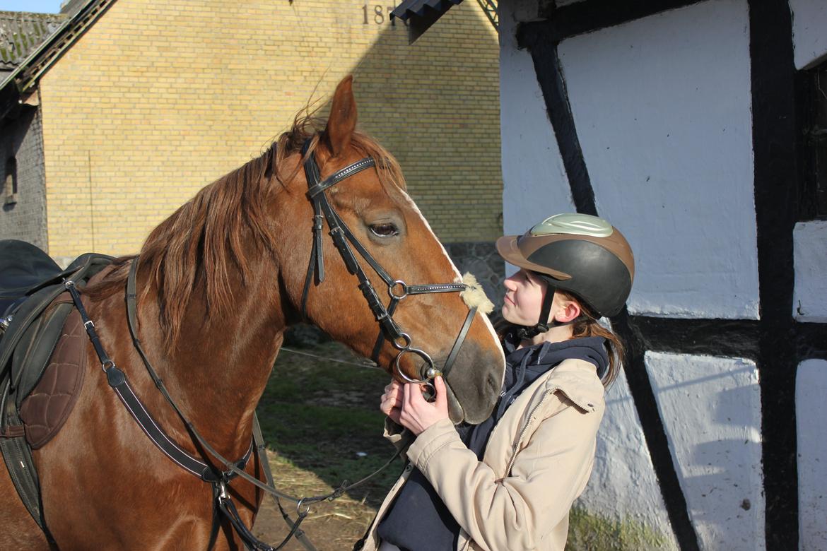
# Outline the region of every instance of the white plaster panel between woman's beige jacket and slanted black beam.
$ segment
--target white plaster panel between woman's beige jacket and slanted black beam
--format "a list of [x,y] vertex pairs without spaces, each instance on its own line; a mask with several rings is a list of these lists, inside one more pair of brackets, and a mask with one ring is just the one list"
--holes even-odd
[[643,525],[662,535],[663,545],[658,549],[678,549],[623,371],[606,392],[595,468],[576,505],[610,519]]

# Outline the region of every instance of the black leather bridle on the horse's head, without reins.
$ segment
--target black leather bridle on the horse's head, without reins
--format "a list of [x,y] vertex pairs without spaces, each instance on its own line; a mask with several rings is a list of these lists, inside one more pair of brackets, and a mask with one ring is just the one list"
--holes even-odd
[[[302,292],[301,306],[302,316],[304,316],[304,319],[308,319],[307,299],[308,292],[310,291],[310,283],[313,281],[313,275],[315,275],[316,285],[319,285],[324,281],[322,231],[323,220],[327,220],[327,227],[330,228],[329,233],[332,237],[333,245],[336,245],[339,254],[342,256],[342,260],[347,267],[347,271],[355,275],[359,280],[359,289],[362,292],[362,296],[365,297],[367,305],[370,307],[370,311],[373,312],[376,322],[380,326],[379,337],[376,339],[376,344],[373,349],[373,354],[371,354],[371,359],[373,359],[376,363],[379,363],[380,350],[382,349],[382,344],[384,344],[385,339],[387,339],[390,341],[390,344],[394,346],[394,349],[399,350],[399,354],[396,355],[393,363],[393,369],[399,374],[399,377],[403,378],[407,382],[427,384],[433,389],[433,385],[431,385],[430,381],[437,377],[437,375],[446,377],[452,368],[454,360],[457,359],[462,342],[465,340],[466,335],[468,335],[468,330],[471,328],[471,322],[474,320],[476,306],[471,307],[468,311],[466,321],[462,325],[459,335],[457,335],[457,340],[454,342],[451,352],[448,354],[445,364],[442,366],[442,370],[435,367],[433,359],[431,359],[431,356],[429,356],[428,353],[426,353],[423,349],[418,349],[413,346],[410,335],[405,333],[399,327],[399,324],[394,321],[394,311],[396,310],[396,306],[399,302],[405,297],[412,295],[423,295],[432,292],[462,292],[466,290],[466,284],[432,283],[428,285],[408,285],[401,279],[394,279],[390,277],[390,274],[387,273],[385,268],[382,268],[381,264],[379,264],[368,252],[368,250],[361,245],[359,240],[356,239],[356,235],[353,235],[350,228],[347,227],[347,224],[342,221],[342,218],[337,214],[330,202],[327,201],[327,195],[324,193],[327,188],[332,188],[332,186],[342,182],[345,178],[359,173],[362,170],[375,167],[375,160],[370,157],[366,157],[365,159],[356,161],[356,163],[351,164],[322,180],[318,164],[316,163],[315,154],[307,154],[309,147],[310,140],[307,140],[304,142],[302,154],[306,156],[304,161],[304,175],[308,181],[307,196],[313,204],[313,248],[310,251],[308,273],[304,278],[304,290]],[[356,259],[356,255],[353,254],[351,245],[352,249],[356,249],[356,252],[360,254],[362,259],[370,265],[370,268],[373,268],[374,272],[382,279],[383,282],[385,282],[385,285],[387,285],[388,295],[390,296],[390,303],[387,307],[385,307],[379,296],[376,294],[375,288],[370,283],[370,279],[368,279],[365,270],[362,269],[361,264],[359,264],[358,259]],[[425,361],[425,366],[423,366],[423,370],[420,373],[420,379],[410,378],[402,372],[399,361],[402,359],[404,354],[415,354]]]

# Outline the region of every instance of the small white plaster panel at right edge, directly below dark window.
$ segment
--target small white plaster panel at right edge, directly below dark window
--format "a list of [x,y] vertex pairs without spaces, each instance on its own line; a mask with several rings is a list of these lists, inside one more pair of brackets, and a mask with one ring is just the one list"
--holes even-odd
[[796,271],[792,315],[797,321],[823,323],[827,321],[827,221],[796,224],[792,239]]

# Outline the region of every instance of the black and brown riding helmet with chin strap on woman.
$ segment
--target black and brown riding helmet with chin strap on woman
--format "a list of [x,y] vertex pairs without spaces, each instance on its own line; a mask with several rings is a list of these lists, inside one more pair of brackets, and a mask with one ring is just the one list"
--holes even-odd
[[[497,252],[506,262],[537,273],[552,291],[571,292],[595,317],[619,313],[632,290],[632,249],[619,230],[597,216],[549,216],[523,235],[500,237]],[[546,292],[538,324],[526,328],[524,336],[548,330],[553,297],[554,292]]]

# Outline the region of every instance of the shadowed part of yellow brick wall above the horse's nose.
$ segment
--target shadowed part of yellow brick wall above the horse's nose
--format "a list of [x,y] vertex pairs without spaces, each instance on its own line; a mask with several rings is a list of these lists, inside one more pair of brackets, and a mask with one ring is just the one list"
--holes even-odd
[[[408,44],[406,26],[366,4],[364,26],[385,30],[351,68],[362,130],[394,154],[408,191],[462,273],[501,304],[499,41],[472,2],[453,7]],[[319,114],[326,116],[329,102]]]

